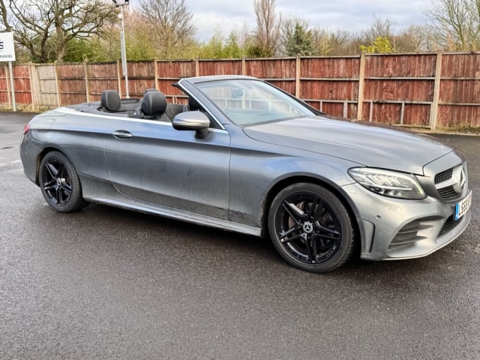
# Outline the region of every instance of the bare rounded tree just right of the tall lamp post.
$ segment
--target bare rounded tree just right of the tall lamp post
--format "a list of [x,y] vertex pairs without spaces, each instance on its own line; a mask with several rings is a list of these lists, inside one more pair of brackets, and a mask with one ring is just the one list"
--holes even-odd
[[196,28],[185,0],[140,0],[140,12],[155,33],[157,56],[173,59],[191,46]]

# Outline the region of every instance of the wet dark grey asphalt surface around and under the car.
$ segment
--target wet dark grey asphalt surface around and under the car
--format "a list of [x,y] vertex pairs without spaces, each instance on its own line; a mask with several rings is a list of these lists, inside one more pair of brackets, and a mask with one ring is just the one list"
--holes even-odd
[[90,205],[23,174],[32,114],[0,113],[0,359],[480,359],[480,138],[472,222],[427,258],[296,270],[268,241]]

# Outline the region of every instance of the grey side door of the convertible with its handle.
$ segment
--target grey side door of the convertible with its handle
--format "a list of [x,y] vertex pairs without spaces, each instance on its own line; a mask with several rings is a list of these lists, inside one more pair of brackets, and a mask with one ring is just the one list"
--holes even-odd
[[225,130],[198,139],[169,122],[125,118],[106,137],[104,153],[124,196],[227,219],[229,140]]

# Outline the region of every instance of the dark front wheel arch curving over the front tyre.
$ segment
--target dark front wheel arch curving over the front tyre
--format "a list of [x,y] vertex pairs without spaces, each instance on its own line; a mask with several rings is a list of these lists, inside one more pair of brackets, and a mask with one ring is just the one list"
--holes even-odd
[[263,205],[262,205],[262,212],[261,212],[261,234],[262,237],[265,237],[268,235],[268,212],[270,211],[270,205],[272,204],[273,199],[275,196],[277,196],[280,191],[282,191],[283,188],[286,188],[287,186],[290,186],[292,184],[298,184],[298,183],[311,183],[311,184],[316,184],[319,186],[323,186],[324,188],[327,188],[329,191],[331,191],[337,198],[342,202],[344,205],[345,209],[347,209],[347,212],[352,220],[352,225],[354,226],[354,234],[356,234],[356,239],[355,241],[360,241],[359,239],[359,224],[356,221],[356,206],[352,202],[352,200],[340,189],[335,186],[332,186],[330,182],[325,181],[323,179],[318,179],[315,176],[308,176],[308,175],[297,175],[297,176],[289,176],[285,179],[280,179],[280,181],[277,181],[271,188],[270,191],[268,191],[267,195],[264,198]]

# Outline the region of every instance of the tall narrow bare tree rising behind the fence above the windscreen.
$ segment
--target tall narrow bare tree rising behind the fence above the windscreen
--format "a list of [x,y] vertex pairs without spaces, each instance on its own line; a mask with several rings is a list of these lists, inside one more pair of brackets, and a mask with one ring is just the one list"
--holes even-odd
[[257,22],[255,45],[262,56],[274,56],[279,47],[281,22],[275,10],[275,0],[253,0],[253,9]]

